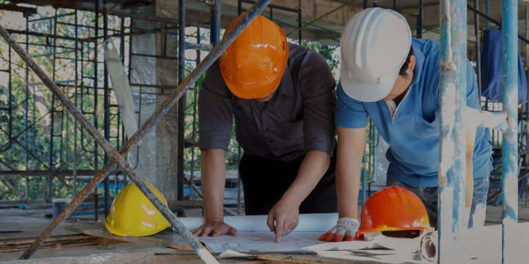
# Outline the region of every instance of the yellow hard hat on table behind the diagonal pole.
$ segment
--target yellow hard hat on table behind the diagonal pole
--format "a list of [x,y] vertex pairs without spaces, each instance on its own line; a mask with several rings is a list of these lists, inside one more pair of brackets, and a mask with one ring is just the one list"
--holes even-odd
[[[145,184],[165,203],[161,192],[145,181]],[[129,184],[121,190],[110,207],[105,226],[112,234],[119,236],[148,236],[156,234],[171,224],[158,209],[143,195],[136,184]]]

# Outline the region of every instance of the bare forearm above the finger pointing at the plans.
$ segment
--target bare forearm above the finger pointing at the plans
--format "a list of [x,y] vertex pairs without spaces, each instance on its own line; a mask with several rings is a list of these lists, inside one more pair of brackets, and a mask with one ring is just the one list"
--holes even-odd
[[323,151],[309,151],[301,163],[298,175],[284,192],[282,199],[295,203],[298,207],[318,185],[329,168],[330,155]]

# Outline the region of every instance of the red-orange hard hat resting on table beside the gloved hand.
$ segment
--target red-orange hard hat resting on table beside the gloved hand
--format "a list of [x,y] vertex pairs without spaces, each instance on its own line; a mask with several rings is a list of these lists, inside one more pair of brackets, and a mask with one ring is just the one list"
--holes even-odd
[[375,192],[362,208],[356,239],[369,232],[400,230],[433,230],[424,203],[415,193],[398,186]]

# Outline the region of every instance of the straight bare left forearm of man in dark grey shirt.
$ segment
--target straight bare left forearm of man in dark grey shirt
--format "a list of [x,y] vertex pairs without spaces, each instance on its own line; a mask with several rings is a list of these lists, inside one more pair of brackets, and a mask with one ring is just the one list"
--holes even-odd
[[222,149],[205,149],[200,160],[205,222],[224,220],[225,155]]

